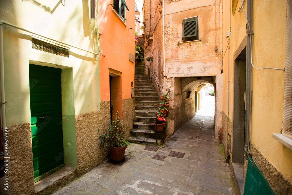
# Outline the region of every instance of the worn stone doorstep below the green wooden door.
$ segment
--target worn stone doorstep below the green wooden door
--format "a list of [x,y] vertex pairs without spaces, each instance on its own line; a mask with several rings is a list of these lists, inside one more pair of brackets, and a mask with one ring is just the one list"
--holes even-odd
[[51,175],[39,180],[34,184],[36,195],[52,194],[54,191],[64,187],[77,177],[77,170],[74,167],[63,167]]

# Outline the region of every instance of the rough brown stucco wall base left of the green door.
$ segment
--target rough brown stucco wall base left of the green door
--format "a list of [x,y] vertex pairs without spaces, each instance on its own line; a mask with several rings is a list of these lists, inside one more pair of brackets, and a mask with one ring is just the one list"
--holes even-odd
[[[0,180],[1,194],[34,194],[32,138],[30,123],[8,126],[8,172]],[[21,132],[21,135],[19,134]],[[30,141],[29,141],[30,140]],[[4,162],[6,161],[4,159]],[[8,190],[4,178],[8,175]]]

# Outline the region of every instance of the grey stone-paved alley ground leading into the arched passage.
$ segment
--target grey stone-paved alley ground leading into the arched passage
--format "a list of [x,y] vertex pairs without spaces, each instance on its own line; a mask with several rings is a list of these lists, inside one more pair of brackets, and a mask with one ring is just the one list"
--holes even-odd
[[[107,160],[54,194],[235,194],[222,146],[213,140],[213,121],[196,115],[156,152],[132,143],[124,162]],[[171,151],[185,154],[168,156]],[[166,158],[152,159],[156,154]]]

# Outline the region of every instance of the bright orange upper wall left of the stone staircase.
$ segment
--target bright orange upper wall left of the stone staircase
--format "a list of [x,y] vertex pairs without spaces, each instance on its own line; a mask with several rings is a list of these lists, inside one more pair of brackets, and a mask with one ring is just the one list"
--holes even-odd
[[[98,2],[98,27],[100,28],[100,101],[109,101],[109,68],[121,72],[122,99],[131,98],[131,82],[134,82],[134,63],[129,61],[129,53],[134,54],[135,3],[126,0],[130,11],[126,10],[126,25],[120,20],[111,5],[112,0]],[[129,29],[132,28],[132,29]],[[120,102],[121,103],[121,102]],[[119,112],[122,106],[118,105]]]

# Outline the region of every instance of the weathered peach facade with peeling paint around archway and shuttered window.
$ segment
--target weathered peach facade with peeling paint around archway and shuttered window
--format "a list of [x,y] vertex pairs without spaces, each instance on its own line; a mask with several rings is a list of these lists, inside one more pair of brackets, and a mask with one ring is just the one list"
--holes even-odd
[[[163,67],[163,36],[162,36],[162,4],[158,0],[151,1],[151,21],[148,16],[148,0],[144,1],[143,18],[146,22],[145,50],[144,55],[153,55],[151,70],[153,71],[160,90],[153,81],[159,95],[164,94],[164,67]],[[219,1],[199,0],[193,1],[173,1],[165,3],[165,62],[166,62],[166,91],[171,90],[170,97],[174,99],[172,103],[174,119],[171,120],[168,132],[174,132],[180,125],[195,115],[194,92],[198,86],[192,87],[190,99],[185,99],[187,89],[181,85],[183,77],[214,77],[212,84],[218,82],[216,98],[215,134],[222,127],[222,24],[220,23],[222,4]],[[187,5],[187,6],[186,6]],[[199,40],[183,42],[182,21],[184,18],[199,16]],[[148,25],[150,33],[147,34]],[[152,42],[147,42],[149,37]],[[218,51],[215,53],[215,46]],[[148,62],[146,64],[149,65]],[[147,73],[147,70],[145,70]],[[211,82],[206,82],[211,83]],[[187,83],[188,84],[188,83]],[[217,137],[215,135],[215,137]]]

